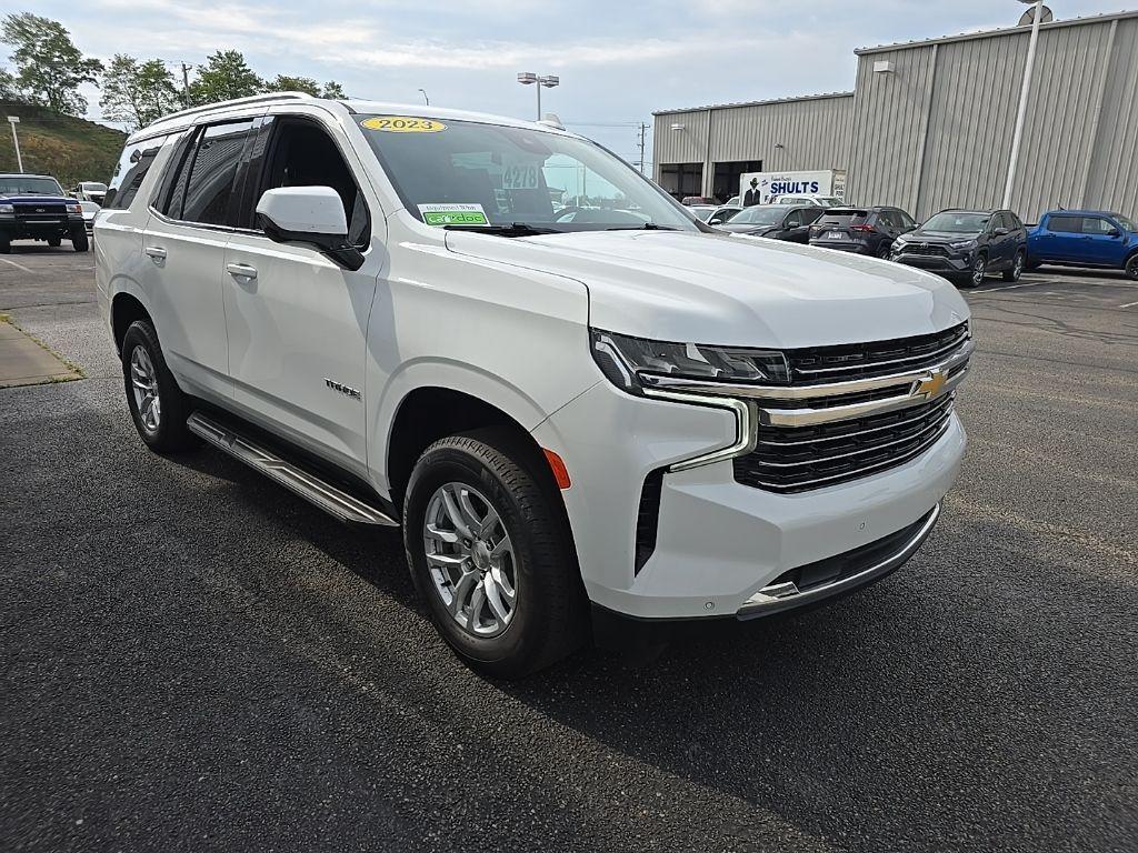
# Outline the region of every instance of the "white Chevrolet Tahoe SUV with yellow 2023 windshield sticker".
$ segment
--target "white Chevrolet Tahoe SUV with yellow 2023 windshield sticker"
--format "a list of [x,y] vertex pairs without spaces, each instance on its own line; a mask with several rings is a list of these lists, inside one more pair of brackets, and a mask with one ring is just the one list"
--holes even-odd
[[490,673],[589,627],[874,581],[964,453],[951,284],[732,239],[559,127],[299,94],[188,110],[127,140],[94,232],[142,440],[402,525],[439,632]]

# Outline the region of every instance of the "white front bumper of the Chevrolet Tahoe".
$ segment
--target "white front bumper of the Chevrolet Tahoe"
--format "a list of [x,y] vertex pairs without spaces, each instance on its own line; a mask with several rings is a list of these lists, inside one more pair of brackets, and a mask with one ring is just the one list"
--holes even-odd
[[[651,556],[636,571],[649,474],[736,441],[735,415],[634,398],[602,382],[543,422],[534,437],[561,455],[572,477],[562,495],[589,598],[638,619],[749,618],[869,582],[873,577],[857,572],[859,579],[839,578],[828,593],[800,588],[793,597],[787,587],[770,589],[792,570],[865,548],[929,516],[956,480],[966,444],[954,414],[916,458],[797,494],[736,482],[731,459],[667,471],[659,475]],[[780,597],[777,604],[768,601]]]

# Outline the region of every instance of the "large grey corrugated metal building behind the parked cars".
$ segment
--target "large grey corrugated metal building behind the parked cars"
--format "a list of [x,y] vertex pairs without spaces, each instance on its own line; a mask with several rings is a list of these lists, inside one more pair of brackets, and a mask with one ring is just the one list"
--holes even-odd
[[[846,169],[847,198],[925,218],[999,207],[1030,26],[865,48],[855,91],[655,113],[655,180],[739,192],[744,172]],[[1138,215],[1138,11],[1040,27],[1012,207]]]

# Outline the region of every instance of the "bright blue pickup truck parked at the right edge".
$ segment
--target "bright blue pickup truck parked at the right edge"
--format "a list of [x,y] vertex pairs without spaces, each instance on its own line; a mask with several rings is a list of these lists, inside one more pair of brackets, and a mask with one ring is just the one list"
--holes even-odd
[[1032,267],[1100,266],[1138,280],[1138,225],[1105,210],[1052,210],[1028,234],[1028,258]]

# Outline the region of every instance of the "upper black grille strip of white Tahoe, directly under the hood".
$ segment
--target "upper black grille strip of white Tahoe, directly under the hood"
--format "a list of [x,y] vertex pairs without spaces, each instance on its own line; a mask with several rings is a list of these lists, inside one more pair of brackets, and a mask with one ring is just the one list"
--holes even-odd
[[884,376],[940,364],[962,347],[968,324],[915,338],[786,350],[792,384]]

